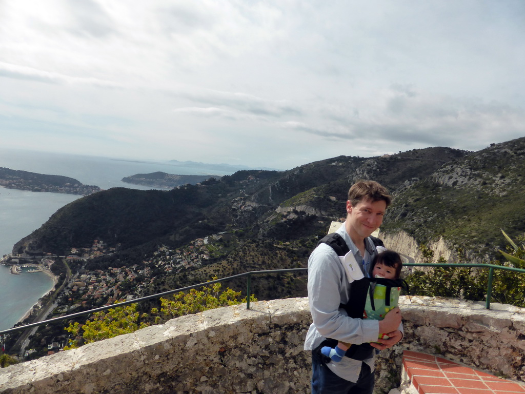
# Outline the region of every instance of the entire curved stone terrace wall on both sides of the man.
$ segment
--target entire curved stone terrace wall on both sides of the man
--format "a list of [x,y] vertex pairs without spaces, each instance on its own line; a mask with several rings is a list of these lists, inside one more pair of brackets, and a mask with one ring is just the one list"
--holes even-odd
[[[405,338],[381,352],[377,393],[397,387],[403,349],[525,380],[523,309],[402,297]],[[5,394],[308,393],[306,298],[208,310],[0,369]]]

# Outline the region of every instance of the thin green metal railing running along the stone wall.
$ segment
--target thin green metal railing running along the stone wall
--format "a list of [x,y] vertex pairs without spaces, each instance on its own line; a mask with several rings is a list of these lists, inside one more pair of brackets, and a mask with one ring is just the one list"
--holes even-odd
[[[488,284],[487,284],[487,298],[486,298],[486,303],[485,303],[485,307],[487,309],[490,309],[490,298],[491,298],[491,292],[492,292],[492,279],[493,279],[493,275],[494,275],[494,270],[495,269],[503,269],[503,270],[506,270],[506,271],[514,271],[514,272],[519,272],[519,273],[525,273],[525,269],[514,268],[514,267],[507,267],[507,266],[503,266],[503,265],[494,265],[494,264],[468,264],[468,263],[404,263],[403,264],[403,267],[411,267],[411,266],[412,267],[417,266],[417,267],[466,267],[466,268],[474,268],[474,267],[476,267],[476,268],[488,268],[489,269],[489,277],[488,277]],[[83,315],[90,315],[92,313],[101,312],[102,310],[107,310],[107,309],[111,309],[111,308],[122,307],[122,306],[130,305],[130,304],[137,304],[137,303],[149,300],[149,299],[160,298],[160,297],[164,297],[164,296],[167,296],[167,295],[172,295],[172,294],[179,293],[179,292],[184,292],[184,291],[187,291],[187,290],[190,290],[190,289],[193,289],[193,288],[207,286],[207,285],[211,285],[211,284],[219,283],[219,282],[231,281],[233,279],[238,279],[238,278],[243,278],[243,277],[247,278],[247,281],[246,281],[247,282],[247,284],[246,284],[246,294],[247,294],[247,296],[246,296],[246,308],[249,309],[250,308],[250,293],[251,293],[251,276],[253,276],[253,275],[260,275],[260,274],[278,274],[278,273],[307,272],[307,271],[308,271],[308,268],[288,268],[288,269],[269,269],[269,270],[266,270],[266,271],[245,272],[243,274],[227,276],[225,278],[215,279],[213,281],[199,283],[199,284],[192,285],[192,286],[181,287],[181,288],[178,288],[178,289],[175,289],[175,290],[170,290],[170,291],[163,292],[163,293],[158,293],[158,294],[153,294],[153,295],[149,295],[149,296],[146,296],[146,297],[131,299],[131,300],[124,301],[124,302],[121,302],[121,303],[118,303],[118,304],[106,305],[106,306],[102,306],[102,307],[95,308],[95,309],[84,310],[82,312],[77,312],[77,313],[74,313],[74,314],[71,314],[71,315],[55,317],[55,318],[48,319],[48,320],[42,320],[41,322],[31,323],[31,324],[27,324],[25,326],[18,326],[18,327],[9,328],[7,330],[0,331],[0,336],[5,335],[5,334],[9,334],[9,333],[13,333],[14,331],[25,330],[25,329],[28,329],[28,328],[37,327],[37,326],[41,326],[41,325],[45,325],[45,324],[49,324],[49,323],[56,323],[56,322],[59,322],[60,320],[72,319],[72,318],[83,316]]]

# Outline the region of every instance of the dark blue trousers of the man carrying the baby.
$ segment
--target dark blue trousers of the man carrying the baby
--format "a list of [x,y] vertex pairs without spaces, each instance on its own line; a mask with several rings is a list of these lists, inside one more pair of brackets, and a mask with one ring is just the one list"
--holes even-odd
[[372,394],[374,372],[363,362],[357,382],[335,375],[321,360],[319,351],[312,350],[312,394]]

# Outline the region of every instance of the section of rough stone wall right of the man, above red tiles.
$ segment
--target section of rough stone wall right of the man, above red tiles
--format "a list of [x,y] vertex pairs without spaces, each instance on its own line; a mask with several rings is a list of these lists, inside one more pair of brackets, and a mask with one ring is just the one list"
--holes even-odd
[[525,381],[525,309],[449,298],[403,297],[403,348]]

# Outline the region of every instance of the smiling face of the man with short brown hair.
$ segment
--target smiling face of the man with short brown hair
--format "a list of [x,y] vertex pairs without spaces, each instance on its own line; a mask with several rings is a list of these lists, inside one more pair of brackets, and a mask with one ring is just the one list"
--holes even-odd
[[386,202],[383,200],[374,202],[364,200],[355,206],[352,206],[350,201],[346,201],[346,212],[348,213],[346,220],[350,224],[349,235],[352,240],[354,240],[354,236],[356,239],[365,239],[379,229],[383,223],[385,211]]

